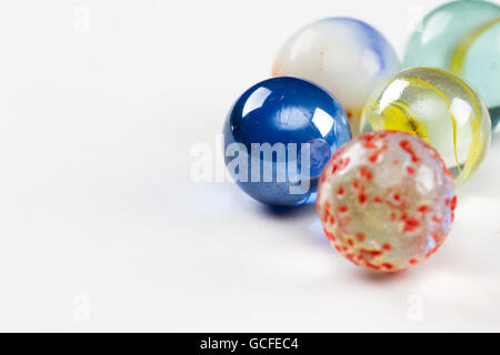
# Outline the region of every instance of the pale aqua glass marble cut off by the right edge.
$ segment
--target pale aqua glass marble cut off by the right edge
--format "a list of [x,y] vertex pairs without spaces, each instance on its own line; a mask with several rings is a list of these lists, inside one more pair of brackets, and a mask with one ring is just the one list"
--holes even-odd
[[454,1],[429,14],[408,41],[403,67],[434,67],[463,77],[500,118],[500,7]]

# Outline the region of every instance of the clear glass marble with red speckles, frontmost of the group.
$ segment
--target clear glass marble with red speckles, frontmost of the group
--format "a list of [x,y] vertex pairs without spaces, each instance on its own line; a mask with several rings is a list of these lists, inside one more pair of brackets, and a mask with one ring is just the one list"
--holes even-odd
[[436,150],[418,136],[384,131],[337,151],[317,206],[337,251],[356,265],[394,272],[439,248],[456,203],[453,179]]

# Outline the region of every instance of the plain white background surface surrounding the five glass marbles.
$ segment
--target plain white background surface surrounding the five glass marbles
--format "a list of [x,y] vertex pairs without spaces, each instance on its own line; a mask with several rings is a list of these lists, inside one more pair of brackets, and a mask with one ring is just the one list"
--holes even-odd
[[499,138],[446,245],[396,275],[331,250],[313,206],[190,178],[298,28],[357,17],[401,55],[441,2],[1,1],[0,329],[500,331]]

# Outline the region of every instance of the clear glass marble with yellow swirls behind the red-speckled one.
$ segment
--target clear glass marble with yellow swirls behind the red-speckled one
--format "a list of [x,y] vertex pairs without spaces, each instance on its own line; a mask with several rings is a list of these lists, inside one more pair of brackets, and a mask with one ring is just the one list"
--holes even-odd
[[457,185],[481,164],[491,122],[481,98],[458,77],[433,68],[412,68],[379,87],[363,109],[361,131],[403,131],[419,135],[441,154]]

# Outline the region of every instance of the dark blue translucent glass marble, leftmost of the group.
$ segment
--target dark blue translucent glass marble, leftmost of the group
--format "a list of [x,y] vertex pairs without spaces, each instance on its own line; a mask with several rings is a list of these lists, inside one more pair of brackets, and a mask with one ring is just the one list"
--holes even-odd
[[296,78],[262,81],[231,108],[223,128],[226,165],[251,197],[270,205],[316,201],[318,178],[351,139],[346,113],[318,85]]

